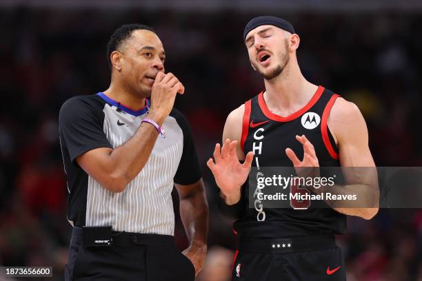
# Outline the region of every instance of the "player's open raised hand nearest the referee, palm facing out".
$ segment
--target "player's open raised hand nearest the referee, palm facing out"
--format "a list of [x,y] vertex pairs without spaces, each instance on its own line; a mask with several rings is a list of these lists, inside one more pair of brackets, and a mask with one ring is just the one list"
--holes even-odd
[[[214,161],[210,158],[207,162],[208,167],[214,175],[215,182],[221,189],[221,193],[227,197],[237,198],[240,195],[241,185],[245,183],[246,178],[254,158],[253,152],[248,152],[245,162],[241,164],[236,154],[237,141],[226,139],[223,147],[217,143],[214,149]],[[239,198],[237,198],[239,200]],[[226,201],[227,202],[227,201]]]

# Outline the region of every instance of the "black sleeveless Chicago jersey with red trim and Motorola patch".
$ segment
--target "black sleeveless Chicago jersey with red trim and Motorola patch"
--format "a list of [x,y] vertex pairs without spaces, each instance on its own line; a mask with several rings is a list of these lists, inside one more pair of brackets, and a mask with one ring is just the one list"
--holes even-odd
[[[295,136],[304,134],[314,145],[321,167],[338,167],[339,154],[327,126],[328,115],[339,95],[319,86],[314,96],[301,110],[290,116],[273,114],[265,105],[263,92],[245,103],[241,147],[243,152],[254,152],[253,167],[292,167],[285,154],[290,147],[299,159],[303,146]],[[248,183],[248,182],[247,182]],[[330,207],[308,209],[249,208],[248,184],[242,198],[246,209],[234,222],[234,231],[241,236],[274,238],[343,233],[345,215]]]

